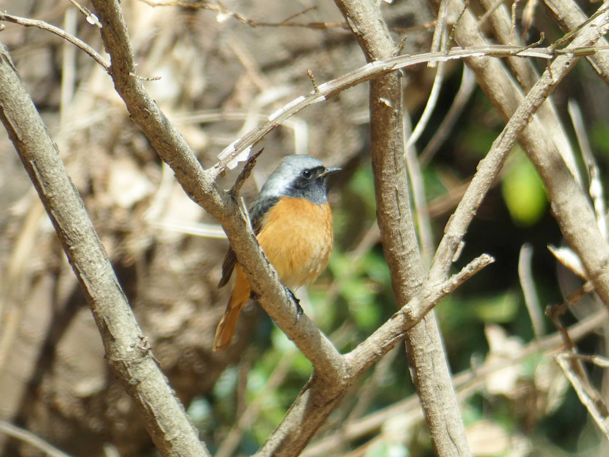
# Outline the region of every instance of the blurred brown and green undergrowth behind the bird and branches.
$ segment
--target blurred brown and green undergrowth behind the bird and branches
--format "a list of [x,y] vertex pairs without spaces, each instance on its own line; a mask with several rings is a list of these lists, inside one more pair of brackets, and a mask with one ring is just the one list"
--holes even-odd
[[[518,33],[525,3],[516,7]],[[342,16],[329,1],[121,5],[139,75],[161,77],[146,82],[147,90],[204,167],[270,113],[311,91],[307,69],[320,84],[365,64],[350,30],[337,26]],[[580,5],[588,14],[597,7]],[[474,2],[471,8],[482,14]],[[68,1],[0,0],[0,9],[62,27],[103,51],[96,27]],[[429,50],[434,15],[426,2],[381,2],[381,9],[396,42],[407,35],[404,54]],[[230,349],[211,352],[230,294],[229,287],[216,288],[228,247],[221,228],[183,193],[130,121],[103,69],[55,35],[5,25],[0,41],[57,142],[154,354],[202,439],[217,457],[256,452],[308,380],[311,364],[256,303],[244,310]],[[562,35],[537,5],[526,43],[537,41],[540,31],[546,44]],[[537,65],[543,70],[545,62]],[[462,63],[448,63],[443,71],[437,107],[414,145],[433,247],[503,127]],[[413,126],[434,75],[424,65],[404,72]],[[376,225],[367,91],[367,83],[350,88],[270,133],[258,146],[264,153],[242,191],[251,201],[287,154],[308,153],[343,167],[329,194],[333,256],[317,282],[297,294],[342,352],[396,311]],[[582,61],[553,97],[581,161],[567,111],[569,99],[579,104],[604,179],[607,87]],[[437,131],[455,100],[449,115],[454,126],[440,141]],[[4,129],[0,170],[0,419],[75,457],[155,455],[104,361],[76,278]],[[229,171],[220,185],[229,188],[238,171]],[[541,317],[539,338],[533,333],[518,277],[525,243],[533,252],[529,278],[536,306],[543,311],[563,301],[556,261],[546,248],[559,246],[561,235],[537,172],[516,146],[465,237],[455,270],[482,252],[496,262],[435,308],[471,450],[477,456],[607,455],[600,448],[604,438],[554,363],[552,351],[560,342],[542,344],[543,333],[555,333],[554,325]],[[563,320],[576,322],[571,314]],[[590,333],[579,349],[602,353],[603,344],[602,334]],[[504,369],[485,370],[497,363]],[[591,369],[591,375],[600,388],[602,372]],[[353,386],[303,455],[431,456],[413,395],[404,346],[398,344]],[[6,456],[42,455],[3,434],[0,448]]]

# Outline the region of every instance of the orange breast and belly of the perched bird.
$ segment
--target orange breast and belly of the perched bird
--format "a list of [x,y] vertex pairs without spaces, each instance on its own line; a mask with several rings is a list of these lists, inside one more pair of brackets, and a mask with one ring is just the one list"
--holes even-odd
[[279,274],[294,290],[312,283],[332,252],[332,212],[327,203],[281,197],[262,219],[258,243]]

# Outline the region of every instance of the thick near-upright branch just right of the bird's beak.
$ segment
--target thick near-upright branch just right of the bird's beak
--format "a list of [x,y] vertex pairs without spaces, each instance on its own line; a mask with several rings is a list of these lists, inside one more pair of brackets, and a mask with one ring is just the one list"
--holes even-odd
[[[395,54],[395,44],[375,2],[335,2],[368,61]],[[393,293],[401,308],[421,292],[425,273],[409,204],[400,74],[370,82],[370,129],[376,213]],[[470,455],[435,313],[430,311],[404,339],[436,455]]]

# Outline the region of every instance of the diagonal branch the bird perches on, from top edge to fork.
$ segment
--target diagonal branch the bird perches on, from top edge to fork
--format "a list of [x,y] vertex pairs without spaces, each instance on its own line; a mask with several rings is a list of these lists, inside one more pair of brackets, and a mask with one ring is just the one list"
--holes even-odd
[[216,169],[203,170],[180,132],[136,76],[127,26],[118,2],[93,0],[92,3],[103,25],[102,40],[110,54],[114,87],[133,121],[149,138],[157,154],[171,166],[186,194],[222,225],[264,310],[311,360],[318,375],[340,385],[345,375],[342,356],[308,316],[303,314],[298,319],[297,308],[275,269],[264,258],[238,199],[216,185]]

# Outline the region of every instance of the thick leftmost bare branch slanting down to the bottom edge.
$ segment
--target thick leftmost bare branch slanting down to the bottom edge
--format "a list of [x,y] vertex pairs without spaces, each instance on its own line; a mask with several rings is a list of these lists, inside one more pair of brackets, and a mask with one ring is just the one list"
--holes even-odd
[[[108,363],[119,375],[164,456],[209,455],[153,360],[57,146],[8,51],[0,46],[0,119],[79,279],[102,335]],[[167,430],[172,433],[167,434]]]

